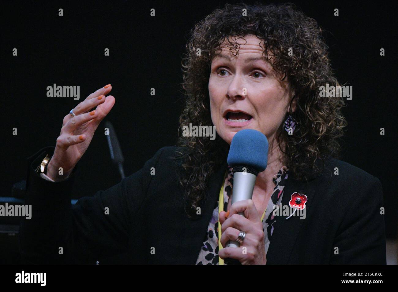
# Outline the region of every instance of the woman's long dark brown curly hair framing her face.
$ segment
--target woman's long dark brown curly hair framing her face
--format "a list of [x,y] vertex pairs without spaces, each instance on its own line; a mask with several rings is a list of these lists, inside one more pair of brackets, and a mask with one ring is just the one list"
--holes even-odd
[[[247,15],[242,15],[244,9]],[[324,168],[324,163],[318,167],[317,159],[338,156],[338,138],[347,122],[340,111],[344,106],[341,97],[320,97],[321,86],[339,86],[332,76],[322,29],[294,4],[226,4],[195,25],[182,60],[187,101],[180,116],[179,133],[190,123],[213,125],[208,90],[211,60],[225,40],[232,53],[239,49],[239,44],[229,37],[248,34],[264,41],[263,56],[295,91],[290,112],[296,100],[296,128],[293,135],[288,135],[281,124],[276,141],[293,177],[307,180],[310,174]],[[293,49],[293,55],[289,56],[289,49]],[[229,145],[219,135],[213,141],[208,137],[179,137],[178,145],[183,151],[176,151],[175,158],[182,166],[179,180],[185,187],[185,211],[191,217],[204,197],[207,179],[226,160]]]

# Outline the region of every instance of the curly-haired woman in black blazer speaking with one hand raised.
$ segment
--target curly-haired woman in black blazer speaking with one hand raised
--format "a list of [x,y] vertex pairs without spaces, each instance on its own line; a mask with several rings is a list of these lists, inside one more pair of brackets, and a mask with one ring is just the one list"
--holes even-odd
[[[98,89],[64,117],[55,149],[29,159],[26,261],[96,263],[126,253],[129,263],[386,263],[380,181],[334,158],[344,102],[321,97],[320,87],[339,83],[314,19],[286,4],[226,5],[195,25],[183,68],[181,129],[215,126],[216,139],[181,135],[179,147],[71,206],[76,164],[115,103],[111,85]],[[265,134],[268,164],[252,200],[231,205],[226,156],[242,129]],[[229,240],[240,247],[226,247]]]

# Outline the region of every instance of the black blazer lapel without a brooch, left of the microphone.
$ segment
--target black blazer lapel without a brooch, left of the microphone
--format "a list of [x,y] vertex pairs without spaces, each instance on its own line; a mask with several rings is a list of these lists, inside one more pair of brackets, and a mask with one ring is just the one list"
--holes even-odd
[[218,200],[222,180],[226,171],[226,162],[210,176],[207,184],[205,199],[200,204],[201,214],[193,219],[183,216],[183,232],[181,250],[177,255],[177,262],[195,265],[203,240],[207,234],[207,227],[213,214],[214,205]]

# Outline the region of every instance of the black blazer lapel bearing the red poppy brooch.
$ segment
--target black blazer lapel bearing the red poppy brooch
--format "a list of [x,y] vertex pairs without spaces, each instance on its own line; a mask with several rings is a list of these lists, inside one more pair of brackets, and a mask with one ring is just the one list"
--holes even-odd
[[[283,190],[282,206],[289,206],[291,195],[293,193],[300,193],[301,195],[307,196],[305,214],[308,216],[311,209],[311,203],[314,200],[316,193],[315,181],[309,180],[308,182],[295,180],[292,178],[290,172],[288,172],[288,179],[285,189]],[[289,207],[289,215],[291,208]],[[295,215],[298,215],[298,210]],[[300,219],[300,216],[291,216],[287,219],[287,216],[277,216],[275,223],[273,224],[274,231],[271,236],[267,251],[267,264],[282,264],[285,265],[289,262],[290,255],[293,250],[298,232],[305,219]],[[286,220],[287,219],[287,220]]]

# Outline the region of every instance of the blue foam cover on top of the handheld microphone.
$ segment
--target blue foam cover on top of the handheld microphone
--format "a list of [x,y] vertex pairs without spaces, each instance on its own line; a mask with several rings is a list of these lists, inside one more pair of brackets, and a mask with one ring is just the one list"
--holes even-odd
[[232,167],[247,165],[264,171],[268,161],[267,137],[257,130],[238,131],[232,138],[227,161]]

